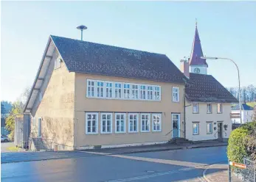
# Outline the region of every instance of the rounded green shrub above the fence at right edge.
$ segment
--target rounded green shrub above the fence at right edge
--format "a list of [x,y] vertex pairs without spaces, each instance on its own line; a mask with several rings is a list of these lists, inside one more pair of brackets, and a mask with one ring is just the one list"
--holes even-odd
[[256,122],[250,122],[236,128],[229,136],[227,156],[230,161],[243,163],[243,158],[253,158],[255,144],[252,136],[256,134]]

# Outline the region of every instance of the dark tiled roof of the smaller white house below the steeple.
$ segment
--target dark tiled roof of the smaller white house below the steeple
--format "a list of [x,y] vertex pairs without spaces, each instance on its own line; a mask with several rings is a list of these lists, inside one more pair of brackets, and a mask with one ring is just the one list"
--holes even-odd
[[238,100],[213,76],[190,73],[186,97],[190,101],[238,103]]

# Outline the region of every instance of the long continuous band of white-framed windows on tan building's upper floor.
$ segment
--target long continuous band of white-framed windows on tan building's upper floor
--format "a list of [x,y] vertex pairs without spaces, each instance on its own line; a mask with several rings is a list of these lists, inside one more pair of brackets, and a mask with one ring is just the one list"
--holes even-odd
[[86,97],[161,101],[161,87],[88,79]]

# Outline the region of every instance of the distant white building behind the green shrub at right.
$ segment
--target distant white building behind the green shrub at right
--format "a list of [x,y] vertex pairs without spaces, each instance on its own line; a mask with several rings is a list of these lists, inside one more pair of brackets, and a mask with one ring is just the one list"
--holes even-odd
[[[253,117],[253,107],[247,105],[246,103],[242,103],[241,104],[241,117],[242,117],[242,124],[251,122],[252,117]],[[239,104],[233,105],[232,106],[232,114],[231,114],[232,123],[240,124],[241,117],[240,117]]]

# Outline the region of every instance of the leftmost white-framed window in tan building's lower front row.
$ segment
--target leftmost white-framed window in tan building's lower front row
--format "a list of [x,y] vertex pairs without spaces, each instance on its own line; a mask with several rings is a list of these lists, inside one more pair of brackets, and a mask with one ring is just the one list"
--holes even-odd
[[98,113],[86,112],[86,134],[98,133]]

